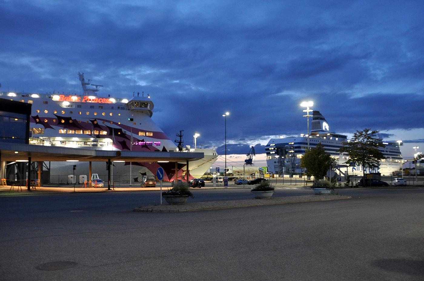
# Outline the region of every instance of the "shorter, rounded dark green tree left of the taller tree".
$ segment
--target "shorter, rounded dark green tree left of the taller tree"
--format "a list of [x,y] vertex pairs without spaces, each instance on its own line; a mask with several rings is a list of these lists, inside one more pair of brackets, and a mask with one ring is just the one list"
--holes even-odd
[[324,178],[330,166],[335,165],[335,160],[325,152],[324,146],[318,143],[316,147],[305,152],[300,165],[307,170],[307,176],[318,180]]

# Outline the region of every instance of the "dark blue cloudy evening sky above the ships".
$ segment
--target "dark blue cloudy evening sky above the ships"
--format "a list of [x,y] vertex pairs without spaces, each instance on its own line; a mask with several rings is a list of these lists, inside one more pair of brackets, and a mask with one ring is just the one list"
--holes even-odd
[[[335,132],[371,128],[424,149],[421,0],[0,0],[0,91],[144,91],[173,139],[257,154],[306,132],[312,100]],[[232,157],[236,157],[233,155]],[[243,162],[245,155],[239,157]],[[260,158],[260,157],[259,157]],[[257,158],[262,161],[262,158]],[[265,163],[263,157],[262,163]],[[234,163],[233,163],[234,164]],[[235,164],[234,164],[235,165]]]

